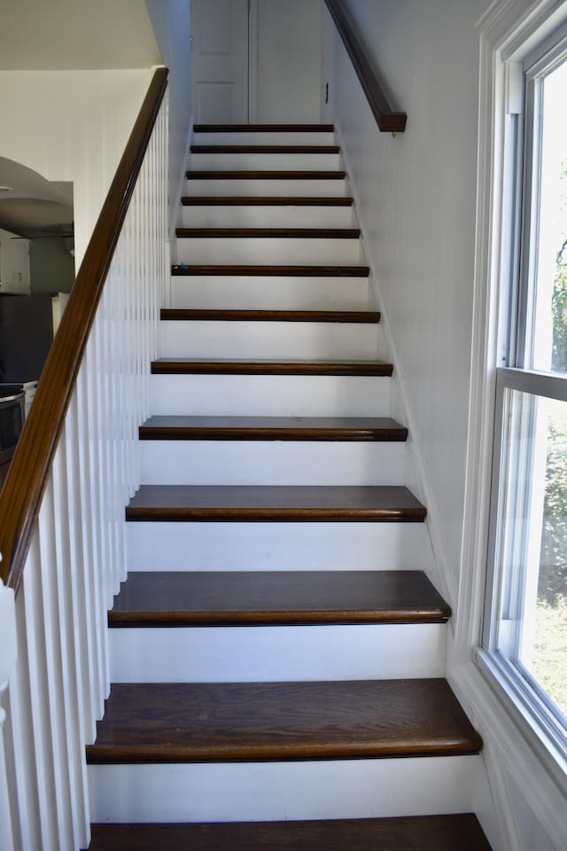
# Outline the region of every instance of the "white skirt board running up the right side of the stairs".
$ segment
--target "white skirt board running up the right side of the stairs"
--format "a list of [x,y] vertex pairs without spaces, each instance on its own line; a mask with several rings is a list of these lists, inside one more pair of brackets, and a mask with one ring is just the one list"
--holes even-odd
[[[380,308],[380,324],[382,326],[382,339],[384,345],[384,357],[395,364],[395,369],[392,375],[391,384],[391,416],[397,418],[408,426],[409,434],[406,443],[406,460],[405,460],[405,475],[404,481],[406,486],[416,494],[416,496],[427,505],[427,518],[425,519],[425,528],[427,530],[428,540],[431,546],[431,558],[426,560],[427,564],[431,564],[431,574],[429,578],[431,582],[439,589],[440,593],[446,597],[449,604],[455,611],[458,599],[458,583],[449,566],[447,550],[441,535],[439,523],[439,509],[433,496],[433,491],[429,483],[429,475],[427,465],[423,457],[419,440],[419,428],[416,422],[416,414],[408,394],[408,382],[405,378],[405,372],[402,365],[402,359],[395,342],[395,335],[392,330],[392,322],[390,320],[386,301],[380,286],[380,279],[377,276],[374,267],[374,259],[372,254],[365,249],[365,245],[369,244],[368,225],[361,215],[360,193],[356,183],[353,182],[350,175],[353,174],[350,168],[349,152],[346,145],[346,137],[340,126],[338,117],[335,116],[335,133],[340,145],[341,156],[343,158],[343,166],[347,174],[347,183],[349,192],[354,199],[354,213],[356,215],[357,227],[361,230],[361,244],[364,255],[364,262],[370,269],[370,288],[374,293],[374,298]],[[382,352],[381,352],[382,356]],[[449,621],[447,626],[453,634],[453,621]],[[448,636],[447,636],[448,637]]]

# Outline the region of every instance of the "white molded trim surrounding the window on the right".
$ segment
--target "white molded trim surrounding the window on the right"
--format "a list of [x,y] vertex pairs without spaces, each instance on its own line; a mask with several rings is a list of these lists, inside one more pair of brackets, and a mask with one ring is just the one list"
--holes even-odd
[[[553,847],[567,847],[567,780],[555,759],[527,725],[518,723],[505,691],[480,665],[485,596],[488,517],[493,454],[493,413],[499,351],[501,279],[509,254],[507,226],[507,67],[533,49],[536,38],[567,20],[565,0],[496,0],[478,21],[480,89],[475,291],[471,352],[469,441],[462,536],[462,570],[455,641],[449,648],[449,679],[485,740],[485,761],[504,846],[530,851],[533,837],[518,827],[517,791],[548,834]],[[512,784],[515,788],[510,787]]]

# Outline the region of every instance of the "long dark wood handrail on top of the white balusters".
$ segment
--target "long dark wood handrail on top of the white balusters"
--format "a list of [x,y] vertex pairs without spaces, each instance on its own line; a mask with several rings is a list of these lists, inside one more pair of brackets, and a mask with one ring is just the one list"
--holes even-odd
[[151,78],[43,367],[34,404],[0,494],[3,557],[0,575],[4,584],[16,591],[90,328],[167,88],[167,74],[167,68],[158,68]]

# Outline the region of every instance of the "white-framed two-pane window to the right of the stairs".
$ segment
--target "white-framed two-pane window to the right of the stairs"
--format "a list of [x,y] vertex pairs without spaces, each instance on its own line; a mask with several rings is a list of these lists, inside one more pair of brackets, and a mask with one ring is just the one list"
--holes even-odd
[[508,265],[483,644],[565,755],[567,38],[547,38],[508,70],[519,97],[507,131]]

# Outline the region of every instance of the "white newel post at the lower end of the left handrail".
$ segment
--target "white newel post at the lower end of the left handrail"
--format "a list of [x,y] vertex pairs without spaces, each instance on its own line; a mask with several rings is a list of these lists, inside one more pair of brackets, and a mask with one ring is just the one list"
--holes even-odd
[[[0,560],[2,555],[0,554]],[[10,790],[4,752],[4,721],[6,713],[1,700],[8,688],[8,680],[16,666],[18,646],[16,638],[16,605],[12,588],[0,580],[0,848],[13,849]]]

